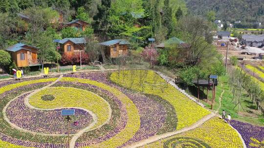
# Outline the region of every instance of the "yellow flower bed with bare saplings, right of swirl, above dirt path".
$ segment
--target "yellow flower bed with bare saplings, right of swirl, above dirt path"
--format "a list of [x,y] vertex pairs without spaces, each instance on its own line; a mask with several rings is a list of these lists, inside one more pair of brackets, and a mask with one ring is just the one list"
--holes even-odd
[[177,113],[178,123],[176,129],[190,126],[210,113],[210,111],[190,100],[173,86],[167,84],[163,78],[153,71],[121,71],[119,74],[114,72],[110,75],[110,79],[121,86],[158,95],[169,101]]

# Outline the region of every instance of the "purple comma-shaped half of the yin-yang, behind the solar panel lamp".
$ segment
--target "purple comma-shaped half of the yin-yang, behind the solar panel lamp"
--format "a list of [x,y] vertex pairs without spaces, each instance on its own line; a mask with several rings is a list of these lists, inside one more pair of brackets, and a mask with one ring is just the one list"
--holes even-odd
[[[25,106],[24,98],[29,93],[18,97],[10,103],[6,113],[9,120],[22,129],[46,134],[68,134],[66,128],[66,119],[61,116],[60,110],[34,110]],[[74,126],[71,122],[70,134],[75,134],[79,130],[88,127],[91,124],[92,116],[84,110],[75,109],[74,120],[79,122],[78,126]]]

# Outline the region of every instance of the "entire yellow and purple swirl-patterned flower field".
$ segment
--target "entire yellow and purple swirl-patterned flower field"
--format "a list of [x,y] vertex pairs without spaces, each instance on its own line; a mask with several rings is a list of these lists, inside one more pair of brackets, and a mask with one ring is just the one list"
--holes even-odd
[[[193,126],[211,112],[153,71],[64,74],[0,82],[0,148],[129,148]],[[76,124],[78,123],[78,124]],[[246,145],[257,133],[232,124]],[[217,117],[148,148],[242,148],[238,132]],[[251,141],[250,141],[251,140]],[[253,147],[252,147],[253,148]]]

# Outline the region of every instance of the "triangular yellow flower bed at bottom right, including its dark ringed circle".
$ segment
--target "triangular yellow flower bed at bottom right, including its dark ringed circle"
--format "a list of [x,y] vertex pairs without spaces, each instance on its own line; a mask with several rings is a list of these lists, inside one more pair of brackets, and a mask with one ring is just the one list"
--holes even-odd
[[182,148],[178,146],[190,143],[194,144],[191,148],[243,148],[236,130],[218,117],[208,120],[197,129],[162,139],[146,147],[166,148],[168,144],[173,144],[173,148]]

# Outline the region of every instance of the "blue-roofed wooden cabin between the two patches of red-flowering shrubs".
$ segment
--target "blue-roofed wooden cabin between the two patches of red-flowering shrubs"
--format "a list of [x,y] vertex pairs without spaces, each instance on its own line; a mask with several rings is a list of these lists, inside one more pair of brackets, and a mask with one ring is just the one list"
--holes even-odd
[[113,39],[100,43],[106,46],[106,56],[115,58],[128,55],[129,42],[124,39]]

